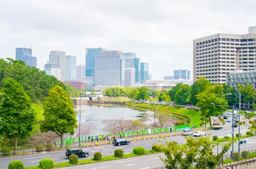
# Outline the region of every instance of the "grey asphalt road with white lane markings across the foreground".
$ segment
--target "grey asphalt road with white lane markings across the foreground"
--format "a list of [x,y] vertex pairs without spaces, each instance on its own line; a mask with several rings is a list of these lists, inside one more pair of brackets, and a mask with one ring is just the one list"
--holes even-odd
[[[242,117],[242,116],[241,116]],[[232,121],[227,123],[224,126],[224,129],[221,130],[209,130],[207,131],[207,134],[212,133],[212,135],[218,135],[219,138],[225,137],[225,136],[231,136],[232,135],[232,127],[231,127]],[[248,123],[247,123],[248,125]],[[241,133],[242,135],[245,135],[247,131],[250,131],[247,129],[248,126],[241,126]],[[239,128],[234,128],[234,133],[236,134],[238,132]],[[176,141],[178,144],[186,143],[186,140],[184,136],[176,136],[176,137],[167,137],[167,141]],[[256,144],[256,137],[250,137],[247,140],[247,144],[241,145],[241,150],[249,150],[255,148]],[[165,142],[165,140],[163,140]],[[93,154],[97,151],[102,152],[103,156],[107,155],[113,155],[115,149],[123,149],[125,153],[132,153],[133,148],[136,146],[143,146],[145,149],[150,150],[153,143],[158,143],[157,139],[155,140],[144,140],[144,141],[138,141],[138,142],[131,142],[129,145],[122,145],[122,146],[100,146],[100,147],[91,147],[91,148],[84,148],[83,150],[88,151],[90,153],[88,158],[93,158]],[[159,144],[159,143],[158,143]],[[215,153],[217,153],[217,149],[214,150]],[[231,149],[230,149],[231,151]],[[228,154],[230,153],[228,152]],[[238,151],[238,143],[234,144],[234,151]],[[151,158],[152,157],[152,158]],[[154,157],[154,159],[153,159]],[[163,166],[163,163],[159,160],[159,154],[158,155],[151,155],[151,156],[145,156],[145,157],[136,157],[131,159],[125,159],[125,160],[118,160],[118,161],[109,161],[104,163],[97,163],[97,164],[90,164],[87,165],[87,169],[98,169],[101,168],[138,168],[138,169],[146,169],[149,168],[156,168],[157,166]],[[0,169],[7,169],[8,164],[12,162],[13,160],[21,160],[24,163],[24,166],[37,166],[39,165],[39,161],[44,158],[51,158],[54,160],[55,163],[61,163],[68,161],[68,158],[65,156],[65,152],[47,152],[47,153],[40,153],[35,155],[24,155],[24,156],[15,156],[15,157],[6,157],[6,158],[0,158]],[[88,159],[87,158],[87,159]],[[84,160],[85,158],[79,158],[80,160]],[[133,165],[131,165],[133,164]],[[154,166],[154,167],[153,167]],[[80,166],[79,166],[80,167]],[[79,167],[76,167],[79,169]],[[82,168],[82,166],[80,167]],[[100,169],[100,168],[99,168]]]

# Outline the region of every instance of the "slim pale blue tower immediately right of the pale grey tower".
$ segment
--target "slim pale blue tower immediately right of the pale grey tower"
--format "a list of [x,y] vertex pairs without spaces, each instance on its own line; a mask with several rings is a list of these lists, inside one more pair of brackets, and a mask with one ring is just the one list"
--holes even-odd
[[76,80],[76,56],[66,56],[66,80]]

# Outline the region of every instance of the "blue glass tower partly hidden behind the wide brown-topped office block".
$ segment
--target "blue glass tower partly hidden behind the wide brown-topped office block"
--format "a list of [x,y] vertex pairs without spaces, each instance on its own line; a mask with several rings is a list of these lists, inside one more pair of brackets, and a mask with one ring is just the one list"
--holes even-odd
[[101,51],[106,51],[103,48],[86,48],[85,49],[85,75],[86,77],[94,77],[94,60],[95,55],[101,54]]

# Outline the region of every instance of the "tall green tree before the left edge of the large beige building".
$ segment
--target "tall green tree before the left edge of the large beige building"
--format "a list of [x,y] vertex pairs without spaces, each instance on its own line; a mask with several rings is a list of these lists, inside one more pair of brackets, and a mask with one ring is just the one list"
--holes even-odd
[[201,92],[203,92],[205,89],[212,86],[212,83],[208,80],[206,80],[205,77],[199,77],[196,82],[193,83],[191,86],[191,98],[190,101],[193,105],[196,105],[198,103],[197,95]]

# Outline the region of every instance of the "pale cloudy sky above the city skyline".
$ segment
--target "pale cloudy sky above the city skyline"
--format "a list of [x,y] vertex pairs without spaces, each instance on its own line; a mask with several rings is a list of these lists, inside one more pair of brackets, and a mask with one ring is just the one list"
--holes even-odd
[[246,34],[256,26],[255,0],[0,0],[0,54],[32,48],[44,69],[49,51],[85,48],[135,52],[152,79],[188,69],[193,40],[217,33]]

